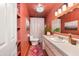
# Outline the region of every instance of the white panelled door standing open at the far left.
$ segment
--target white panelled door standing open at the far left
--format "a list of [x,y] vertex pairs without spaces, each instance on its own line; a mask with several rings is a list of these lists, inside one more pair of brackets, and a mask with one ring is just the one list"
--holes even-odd
[[0,56],[17,55],[17,6],[0,5]]

